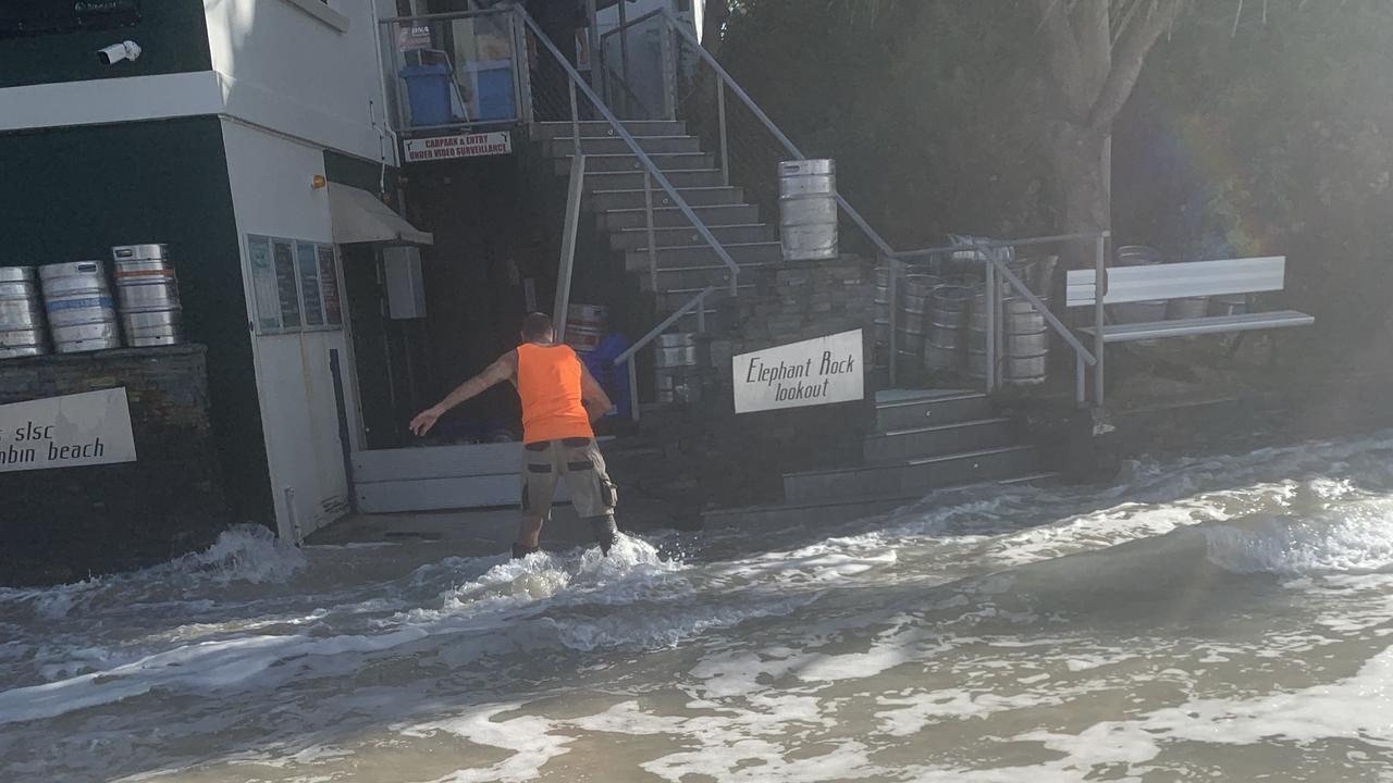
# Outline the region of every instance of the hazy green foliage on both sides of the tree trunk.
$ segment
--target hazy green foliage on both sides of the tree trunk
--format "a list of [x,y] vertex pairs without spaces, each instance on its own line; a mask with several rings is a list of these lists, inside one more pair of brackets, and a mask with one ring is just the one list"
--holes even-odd
[[[1119,241],[1286,254],[1294,307],[1340,340],[1376,333],[1393,290],[1393,3],[1237,14],[1198,0],[1149,54],[1114,128]],[[894,245],[1020,235],[1057,228],[1038,24],[1009,0],[741,0],[722,59],[805,152],[837,159]]]

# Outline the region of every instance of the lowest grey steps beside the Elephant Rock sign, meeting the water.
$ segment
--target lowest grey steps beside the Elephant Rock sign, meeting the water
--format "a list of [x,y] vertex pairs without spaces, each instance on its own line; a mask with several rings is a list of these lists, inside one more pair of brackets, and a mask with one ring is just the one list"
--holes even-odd
[[933,489],[1056,478],[976,392],[880,392],[861,464],[786,474],[784,502],[705,514],[706,527],[834,522],[885,514]]

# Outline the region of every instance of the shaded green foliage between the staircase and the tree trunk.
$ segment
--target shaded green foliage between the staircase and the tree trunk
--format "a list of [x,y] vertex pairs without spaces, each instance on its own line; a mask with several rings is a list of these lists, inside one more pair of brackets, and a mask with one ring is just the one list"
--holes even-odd
[[[1052,224],[1043,82],[1014,3],[745,0],[722,59],[900,247]],[[1032,118],[1036,117],[1036,118]]]

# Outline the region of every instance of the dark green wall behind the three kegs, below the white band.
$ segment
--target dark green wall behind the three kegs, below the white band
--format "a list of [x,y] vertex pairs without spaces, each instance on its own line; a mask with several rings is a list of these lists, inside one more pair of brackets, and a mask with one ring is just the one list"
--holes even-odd
[[109,259],[111,245],[164,242],[189,340],[208,380],[227,495],[270,521],[241,251],[216,117],[0,135],[4,265]]

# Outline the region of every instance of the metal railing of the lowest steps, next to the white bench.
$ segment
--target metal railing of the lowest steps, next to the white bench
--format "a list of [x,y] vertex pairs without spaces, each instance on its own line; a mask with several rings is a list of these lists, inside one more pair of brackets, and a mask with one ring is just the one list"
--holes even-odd
[[[1025,240],[985,240],[985,241],[971,241],[958,242],[953,245],[944,245],[937,248],[922,248],[914,251],[900,251],[892,252],[886,258],[890,263],[889,274],[889,300],[890,300],[890,378],[894,383],[896,365],[898,364],[897,357],[897,341],[898,341],[898,311],[897,307],[898,297],[896,291],[900,286],[900,277],[904,273],[907,265],[914,265],[921,259],[932,259],[935,256],[953,256],[958,254],[968,254],[974,259],[979,259],[983,263],[983,272],[986,277],[986,392],[997,392],[1002,387],[1002,373],[997,371],[997,364],[1004,358],[1003,340],[1006,337],[1006,330],[1003,327],[1003,312],[1004,312],[1004,297],[1006,290],[1014,290],[1017,295],[1029,302],[1031,308],[1038,312],[1045,323],[1055,330],[1060,339],[1074,350],[1074,401],[1084,405],[1088,401],[1087,382],[1085,382],[1085,366],[1092,366],[1094,369],[1094,403],[1102,404],[1103,401],[1103,339],[1102,330],[1095,330],[1094,350],[1089,351],[1084,344],[1074,336],[1064,323],[1050,312],[1049,305],[1046,305],[1036,294],[1027,286],[1002,259],[1000,254],[992,252],[1003,248],[1027,248],[1027,247],[1042,247],[1042,245],[1059,245],[1077,241],[1092,241],[1094,242],[1094,263],[1095,263],[1095,284],[1098,291],[1106,290],[1106,277],[1103,270],[1105,261],[1105,245],[1107,238],[1112,235],[1110,231],[1094,231],[1081,234],[1060,234],[1053,237],[1029,237]],[[1098,297],[1098,318],[1100,320],[1102,312],[1102,295]]]

